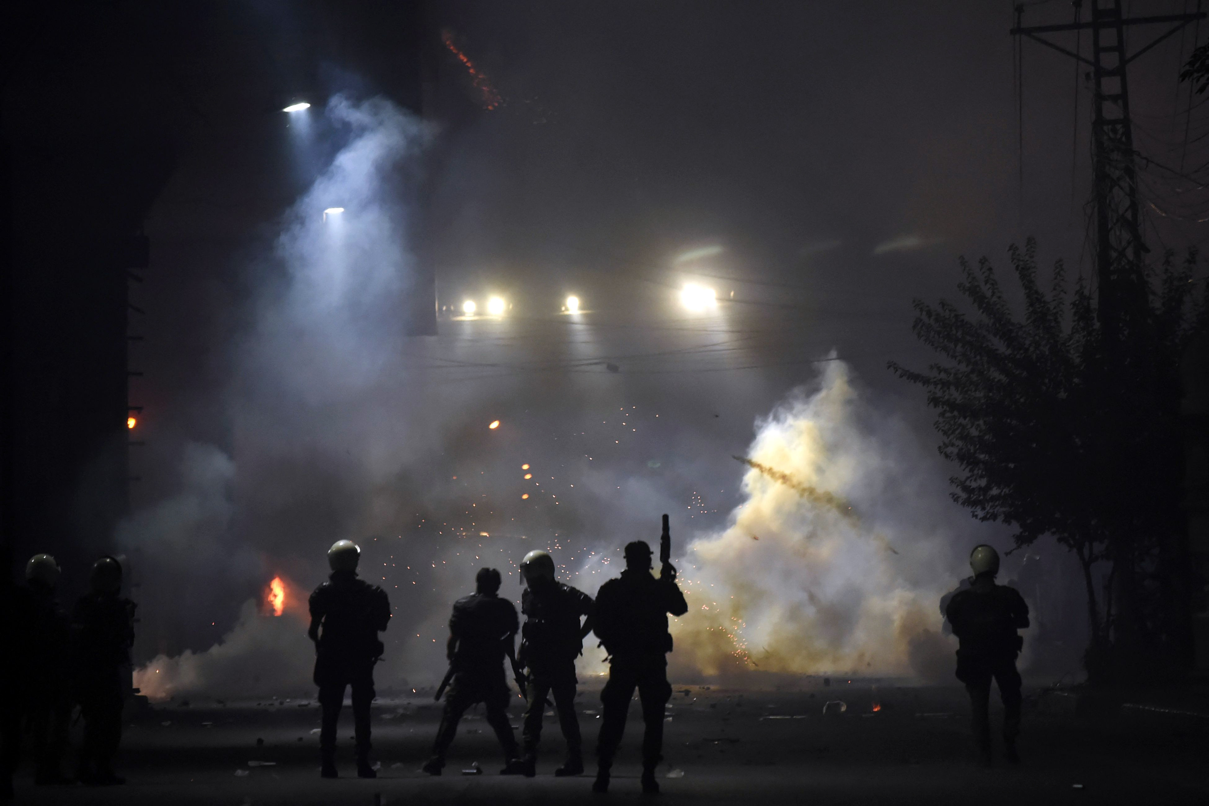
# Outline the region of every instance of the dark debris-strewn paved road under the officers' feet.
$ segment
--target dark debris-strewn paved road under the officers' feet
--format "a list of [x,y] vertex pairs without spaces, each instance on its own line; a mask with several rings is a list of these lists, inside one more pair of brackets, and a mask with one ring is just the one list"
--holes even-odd
[[[825,715],[828,700],[843,700],[846,709]],[[877,712],[874,702],[881,704]],[[1209,719],[1135,708],[1076,714],[1072,698],[1054,696],[1032,695],[1028,703],[1024,764],[984,769],[972,761],[964,692],[956,688],[839,685],[760,692],[679,686],[667,709],[660,800],[1209,804]],[[589,748],[598,707],[595,692],[580,697]],[[519,717],[519,700],[513,711]],[[18,778],[17,802],[372,806],[642,799],[636,704],[608,799],[591,795],[590,776],[553,777],[563,748],[553,717],[537,778],[497,775],[502,759],[481,714],[463,721],[446,775],[426,776],[418,766],[428,755],[438,714],[423,698],[376,703],[375,755],[382,764],[376,781],[354,777],[352,717],[346,714],[340,761],[348,777],[324,781],[318,776],[319,713],[313,702],[156,709],[127,730],[127,785],[35,788],[27,766]],[[485,775],[459,775],[474,761]]]

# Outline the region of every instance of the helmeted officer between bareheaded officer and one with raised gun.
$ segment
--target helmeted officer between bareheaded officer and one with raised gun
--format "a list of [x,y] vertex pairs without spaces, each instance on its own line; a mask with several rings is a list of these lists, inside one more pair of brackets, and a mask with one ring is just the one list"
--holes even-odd
[[[584,771],[584,756],[575,717],[575,659],[583,651],[584,636],[592,631],[592,597],[554,579],[554,558],[540,549],[525,555],[520,570],[526,587],[521,593],[525,625],[517,661],[528,668],[522,733],[525,775],[532,777],[537,772],[542,714],[546,696],[553,692],[562,737],[567,740],[567,760],[554,775],[577,776]],[[586,616],[583,625],[580,616]]]

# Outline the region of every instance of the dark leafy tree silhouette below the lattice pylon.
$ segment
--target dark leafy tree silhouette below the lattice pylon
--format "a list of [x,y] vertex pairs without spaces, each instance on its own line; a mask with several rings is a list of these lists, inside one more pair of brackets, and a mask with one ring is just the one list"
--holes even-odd
[[1139,271],[1109,332],[1082,278],[1068,288],[1062,261],[1047,294],[1036,243],[1008,253],[1023,305],[989,260],[974,268],[962,259],[958,290],[971,313],[914,301],[913,330],[944,361],[890,369],[937,410],[939,452],[960,469],[953,499],[1014,526],[1017,546],[1052,537],[1078,558],[1089,680],[1143,653],[1182,660],[1179,359],[1205,321],[1196,255]]

